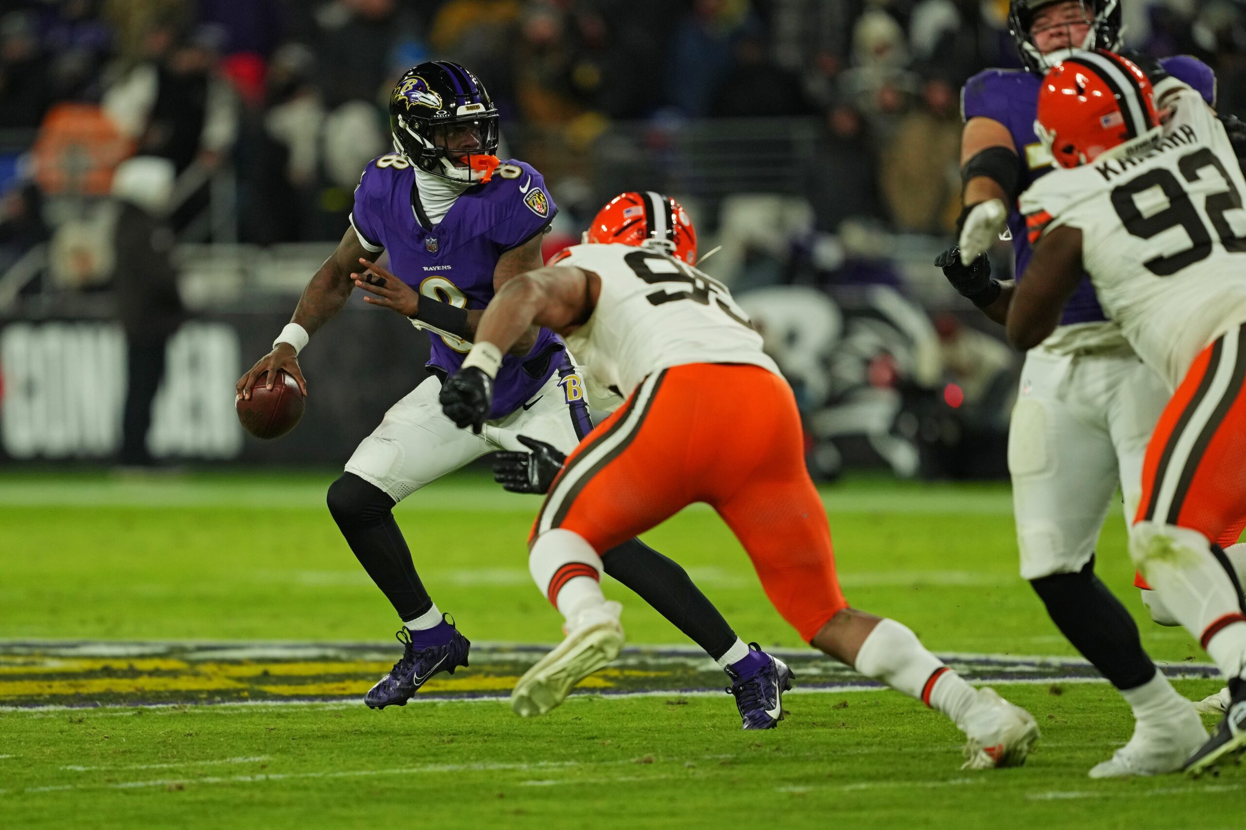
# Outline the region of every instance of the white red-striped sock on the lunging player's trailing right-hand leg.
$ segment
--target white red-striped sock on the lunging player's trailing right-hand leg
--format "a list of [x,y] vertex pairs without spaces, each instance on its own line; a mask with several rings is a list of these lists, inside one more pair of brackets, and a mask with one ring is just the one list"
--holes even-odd
[[959,674],[926,651],[917,634],[895,619],[873,627],[857,651],[854,668],[942,712],[957,727],[978,697]]

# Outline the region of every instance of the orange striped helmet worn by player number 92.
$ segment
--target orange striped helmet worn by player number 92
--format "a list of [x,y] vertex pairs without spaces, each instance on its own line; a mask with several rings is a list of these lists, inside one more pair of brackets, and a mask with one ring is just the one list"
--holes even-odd
[[1075,51],[1038,91],[1034,132],[1060,167],[1145,152],[1159,141],[1159,125],[1151,82],[1115,52]]

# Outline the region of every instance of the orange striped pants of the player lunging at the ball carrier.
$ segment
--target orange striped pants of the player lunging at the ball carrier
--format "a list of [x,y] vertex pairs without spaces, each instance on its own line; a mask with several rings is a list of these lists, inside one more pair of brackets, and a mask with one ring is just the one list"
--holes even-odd
[[760,366],[700,363],[649,375],[567,457],[530,538],[561,527],[601,553],[697,501],[728,523],[806,642],[847,607],[796,400]]

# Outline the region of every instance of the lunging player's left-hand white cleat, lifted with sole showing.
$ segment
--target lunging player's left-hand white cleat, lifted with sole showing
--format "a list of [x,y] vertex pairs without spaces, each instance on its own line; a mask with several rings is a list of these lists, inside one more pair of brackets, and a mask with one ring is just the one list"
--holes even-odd
[[567,699],[572,687],[604,667],[623,648],[623,606],[606,602],[567,622],[567,638],[530,668],[511,692],[511,709],[523,718],[545,714]]

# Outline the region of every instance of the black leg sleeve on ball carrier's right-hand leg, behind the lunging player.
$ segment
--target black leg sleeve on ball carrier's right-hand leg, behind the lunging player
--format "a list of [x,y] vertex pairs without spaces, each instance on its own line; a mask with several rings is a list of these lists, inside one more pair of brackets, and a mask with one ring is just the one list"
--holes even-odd
[[602,565],[714,659],[735,642],[735,632],[688,572],[640,540],[606,551]]

